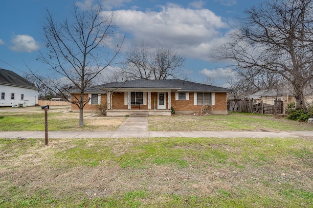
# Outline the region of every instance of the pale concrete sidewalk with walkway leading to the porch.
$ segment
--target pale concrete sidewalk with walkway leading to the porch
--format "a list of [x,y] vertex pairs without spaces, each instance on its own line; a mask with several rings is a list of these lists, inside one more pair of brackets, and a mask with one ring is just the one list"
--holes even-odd
[[[48,132],[48,138],[130,138],[130,137],[216,137],[216,138],[297,138],[312,132],[154,132],[148,131],[146,117],[129,117],[115,132]],[[0,138],[45,138],[42,132],[0,132]]]

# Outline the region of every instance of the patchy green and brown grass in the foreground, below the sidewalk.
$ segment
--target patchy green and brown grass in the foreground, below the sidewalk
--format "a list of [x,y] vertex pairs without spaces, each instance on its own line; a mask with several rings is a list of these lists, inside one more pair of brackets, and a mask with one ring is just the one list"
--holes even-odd
[[0,208],[311,208],[311,138],[0,139]]

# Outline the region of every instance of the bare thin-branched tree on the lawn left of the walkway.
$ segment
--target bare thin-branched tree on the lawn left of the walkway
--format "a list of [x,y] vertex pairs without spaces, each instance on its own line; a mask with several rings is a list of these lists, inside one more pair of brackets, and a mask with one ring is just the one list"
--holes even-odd
[[[102,71],[114,64],[122,44],[116,45],[113,52],[106,51],[108,42],[114,36],[113,13],[104,17],[99,4],[90,3],[88,10],[80,10],[75,4],[73,7],[72,21],[55,22],[47,10],[45,53],[40,53],[38,59],[50,68],[49,82],[42,83],[78,106],[79,126],[83,126],[84,106],[90,99],[84,97],[85,89],[92,86],[93,80]],[[72,95],[69,100],[68,94],[74,89],[79,96]]]

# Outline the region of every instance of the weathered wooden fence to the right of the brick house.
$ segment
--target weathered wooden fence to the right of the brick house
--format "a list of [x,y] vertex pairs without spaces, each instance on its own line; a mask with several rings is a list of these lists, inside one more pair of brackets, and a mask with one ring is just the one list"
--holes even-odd
[[228,110],[240,113],[282,114],[283,101],[276,101],[276,105],[269,105],[262,100],[230,100]]

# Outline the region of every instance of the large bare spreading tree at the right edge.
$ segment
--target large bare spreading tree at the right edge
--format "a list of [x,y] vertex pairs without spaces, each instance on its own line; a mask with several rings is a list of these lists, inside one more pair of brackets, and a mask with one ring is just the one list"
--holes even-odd
[[313,1],[266,1],[246,15],[232,41],[212,57],[283,76],[292,84],[297,107],[305,110],[304,89],[313,80]]

